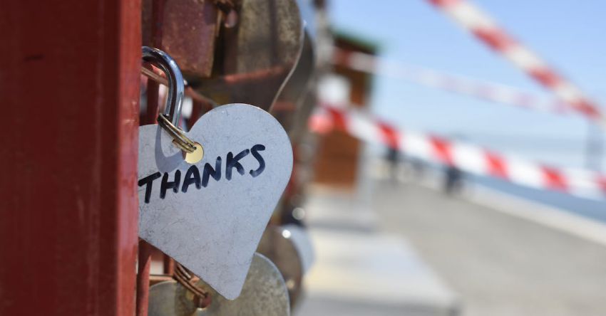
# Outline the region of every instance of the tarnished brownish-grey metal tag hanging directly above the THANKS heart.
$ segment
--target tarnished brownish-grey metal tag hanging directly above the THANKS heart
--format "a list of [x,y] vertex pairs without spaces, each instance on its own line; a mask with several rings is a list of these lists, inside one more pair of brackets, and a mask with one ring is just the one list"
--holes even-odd
[[242,0],[237,26],[222,30],[223,59],[212,78],[188,82],[219,103],[268,110],[299,60],[303,24],[294,0]]

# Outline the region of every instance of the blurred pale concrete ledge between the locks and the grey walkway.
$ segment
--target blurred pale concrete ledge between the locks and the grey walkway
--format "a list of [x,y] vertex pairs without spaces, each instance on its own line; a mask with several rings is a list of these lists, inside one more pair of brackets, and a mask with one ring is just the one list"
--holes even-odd
[[316,262],[294,315],[456,315],[456,297],[370,205],[314,189],[306,208]]

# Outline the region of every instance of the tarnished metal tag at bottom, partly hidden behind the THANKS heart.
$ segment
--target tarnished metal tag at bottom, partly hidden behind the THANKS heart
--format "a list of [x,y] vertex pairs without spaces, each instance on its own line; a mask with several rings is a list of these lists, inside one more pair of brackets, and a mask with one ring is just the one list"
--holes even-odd
[[287,316],[289,299],[279,270],[265,256],[255,253],[242,294],[227,300],[207,284],[197,284],[211,295],[208,307],[198,309],[192,295],[176,281],[158,283],[150,288],[149,316]]

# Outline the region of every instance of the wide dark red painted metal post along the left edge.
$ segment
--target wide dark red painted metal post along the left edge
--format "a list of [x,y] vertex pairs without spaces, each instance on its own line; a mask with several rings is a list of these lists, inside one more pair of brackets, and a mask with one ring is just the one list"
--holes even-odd
[[4,1],[0,315],[133,315],[140,3]]

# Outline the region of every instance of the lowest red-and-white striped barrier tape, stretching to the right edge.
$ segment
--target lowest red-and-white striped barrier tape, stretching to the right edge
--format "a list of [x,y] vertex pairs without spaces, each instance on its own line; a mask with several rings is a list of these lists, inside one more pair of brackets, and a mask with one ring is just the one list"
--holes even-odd
[[404,132],[355,110],[323,105],[310,118],[309,127],[320,133],[337,128],[365,142],[384,144],[411,157],[451,165],[471,174],[498,177],[515,184],[577,196],[606,196],[606,174],[583,169],[558,169],[436,135]]

